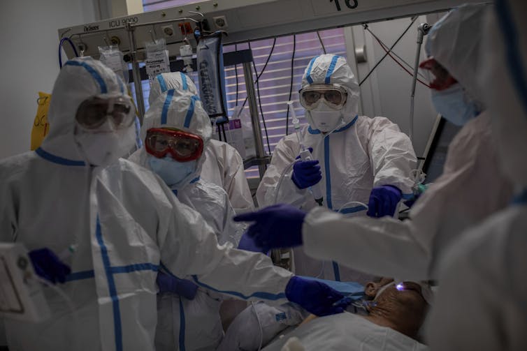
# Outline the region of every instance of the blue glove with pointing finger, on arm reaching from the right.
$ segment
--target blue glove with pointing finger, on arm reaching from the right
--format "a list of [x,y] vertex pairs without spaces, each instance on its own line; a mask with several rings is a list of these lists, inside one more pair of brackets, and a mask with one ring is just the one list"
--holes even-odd
[[302,245],[302,223],[305,212],[290,204],[273,204],[259,211],[239,214],[236,222],[254,222],[247,228],[247,235],[257,246],[268,251],[270,248],[290,248]]

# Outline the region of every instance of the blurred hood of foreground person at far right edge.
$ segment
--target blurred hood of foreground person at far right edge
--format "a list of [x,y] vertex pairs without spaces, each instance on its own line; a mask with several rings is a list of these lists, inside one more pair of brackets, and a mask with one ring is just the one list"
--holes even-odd
[[521,190],[527,188],[527,1],[497,1],[495,6],[483,34],[481,86],[500,166]]

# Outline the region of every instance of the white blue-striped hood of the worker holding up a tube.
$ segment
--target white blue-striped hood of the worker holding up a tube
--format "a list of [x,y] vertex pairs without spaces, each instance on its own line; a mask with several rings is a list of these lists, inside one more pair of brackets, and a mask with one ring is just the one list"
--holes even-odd
[[[310,84],[339,84],[346,89],[347,100],[341,110],[345,124],[352,121],[359,112],[359,84],[344,57],[333,54],[313,57],[302,76],[302,88]],[[306,113],[305,116],[311,128],[316,128],[310,114]]]

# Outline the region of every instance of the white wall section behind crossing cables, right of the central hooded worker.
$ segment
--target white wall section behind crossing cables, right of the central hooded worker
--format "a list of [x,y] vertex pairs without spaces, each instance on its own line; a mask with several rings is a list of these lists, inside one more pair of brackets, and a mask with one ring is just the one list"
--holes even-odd
[[[417,27],[421,22],[426,22],[426,17],[419,17],[396,47],[394,47],[394,52],[410,64],[410,66],[414,65],[417,48]],[[410,18],[376,22],[368,24],[368,26],[380,40],[386,45],[391,46],[407,28],[408,24],[410,24]],[[385,52],[377,43],[377,40],[368,31],[364,31],[361,26],[352,27],[352,35],[349,36],[352,36],[349,40],[354,45],[366,45],[368,61],[362,64],[356,64],[356,68],[353,68],[356,70],[360,82],[363,77],[366,77],[369,70],[375,66],[377,61],[384,56]],[[420,61],[424,59],[423,49],[424,44],[421,47]],[[412,76],[400,68],[390,57],[386,57],[361,86],[363,114],[370,117],[387,117],[398,124],[404,133],[409,135],[411,87]],[[429,89],[418,82],[415,92],[413,140],[417,156],[423,156],[436,115],[437,112],[435,112],[430,100]]]

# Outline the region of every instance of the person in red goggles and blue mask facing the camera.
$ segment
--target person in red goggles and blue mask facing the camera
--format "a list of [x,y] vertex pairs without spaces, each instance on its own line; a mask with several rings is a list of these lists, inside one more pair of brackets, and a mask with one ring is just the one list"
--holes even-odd
[[[180,77],[185,77],[180,74]],[[187,77],[185,77],[187,78]],[[245,230],[234,223],[234,211],[223,188],[200,177],[212,127],[198,96],[185,89],[162,93],[145,114],[142,149],[129,160],[155,172],[178,200],[198,211],[217,234],[220,245],[237,247]],[[250,261],[239,262],[243,270]],[[248,270],[252,267],[247,267]],[[161,269],[161,272],[163,269]],[[156,330],[157,350],[213,350],[223,338],[219,308],[224,295],[199,287],[191,276],[185,280],[160,273]],[[182,317],[183,316],[183,317]]]

